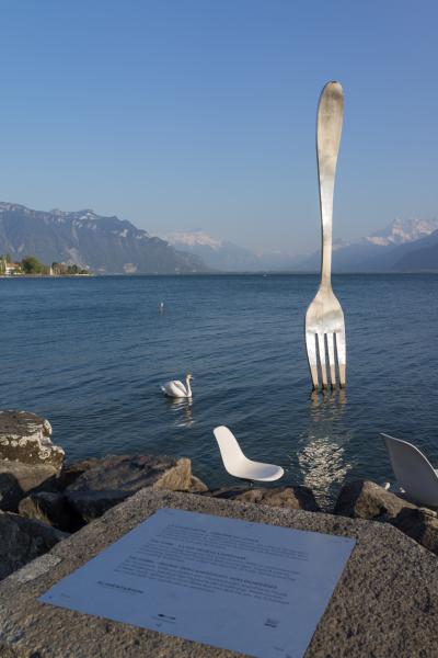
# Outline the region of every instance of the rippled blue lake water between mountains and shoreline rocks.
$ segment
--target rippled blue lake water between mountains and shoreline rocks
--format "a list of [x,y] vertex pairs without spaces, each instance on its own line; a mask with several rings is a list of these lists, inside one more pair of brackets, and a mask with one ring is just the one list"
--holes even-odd
[[[68,461],[188,456],[235,485],[212,428],[321,501],[354,478],[394,479],[379,432],[438,465],[438,276],[338,275],[347,387],[311,394],[303,341],[315,275],[0,280],[0,408],[51,422]],[[164,302],[164,313],[158,313]],[[193,404],[160,392],[194,375]]]

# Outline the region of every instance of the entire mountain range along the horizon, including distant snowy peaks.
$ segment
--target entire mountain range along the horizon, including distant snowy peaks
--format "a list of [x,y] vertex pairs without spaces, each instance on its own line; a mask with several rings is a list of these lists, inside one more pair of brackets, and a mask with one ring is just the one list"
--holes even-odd
[[[33,211],[0,202],[0,254],[15,261],[77,264],[97,274],[188,274],[211,271],[320,269],[320,250],[257,254],[200,229],[150,236],[126,219],[93,211]],[[394,219],[383,230],[333,245],[334,272],[438,271],[438,218]]]

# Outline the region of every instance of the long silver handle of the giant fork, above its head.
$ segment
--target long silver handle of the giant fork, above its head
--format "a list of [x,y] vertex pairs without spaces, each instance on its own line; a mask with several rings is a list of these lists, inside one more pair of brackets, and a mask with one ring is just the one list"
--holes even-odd
[[321,92],[316,120],[316,159],[322,228],[321,286],[331,287],[333,192],[344,116],[339,82],[327,82]]

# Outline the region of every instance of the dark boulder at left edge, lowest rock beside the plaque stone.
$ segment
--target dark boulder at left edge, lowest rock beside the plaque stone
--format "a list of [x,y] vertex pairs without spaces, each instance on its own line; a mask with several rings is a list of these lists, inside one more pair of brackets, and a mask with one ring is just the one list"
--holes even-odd
[[0,579],[43,555],[67,536],[38,521],[0,512]]

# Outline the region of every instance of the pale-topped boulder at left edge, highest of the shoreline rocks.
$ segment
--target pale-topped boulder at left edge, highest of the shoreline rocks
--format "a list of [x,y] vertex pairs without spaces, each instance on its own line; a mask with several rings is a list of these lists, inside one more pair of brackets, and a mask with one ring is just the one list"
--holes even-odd
[[0,411],[0,460],[61,469],[65,452],[50,440],[48,420],[28,411]]

